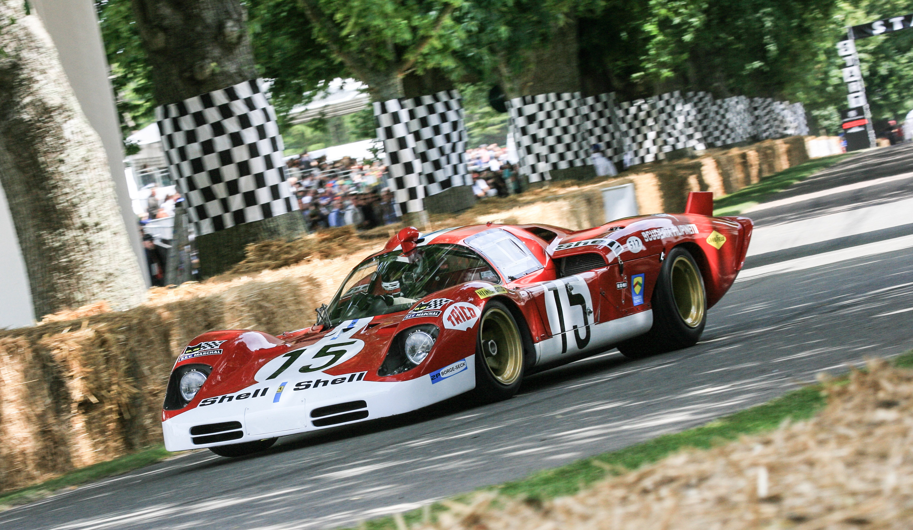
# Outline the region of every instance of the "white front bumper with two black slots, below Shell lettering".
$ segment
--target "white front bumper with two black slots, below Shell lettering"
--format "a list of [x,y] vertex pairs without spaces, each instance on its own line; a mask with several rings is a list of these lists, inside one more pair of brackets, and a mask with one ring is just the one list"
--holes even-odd
[[187,451],[374,420],[421,409],[476,387],[474,357],[400,382],[320,376],[324,379],[312,376],[271,386],[257,383],[210,405],[186,410],[162,422],[165,448]]

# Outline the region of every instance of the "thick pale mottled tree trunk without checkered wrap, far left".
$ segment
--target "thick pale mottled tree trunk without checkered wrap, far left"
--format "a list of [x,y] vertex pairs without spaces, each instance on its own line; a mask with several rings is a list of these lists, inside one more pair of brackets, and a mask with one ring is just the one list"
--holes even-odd
[[108,300],[142,302],[145,282],[98,133],[57,50],[25,3],[0,2],[0,182],[41,317]]

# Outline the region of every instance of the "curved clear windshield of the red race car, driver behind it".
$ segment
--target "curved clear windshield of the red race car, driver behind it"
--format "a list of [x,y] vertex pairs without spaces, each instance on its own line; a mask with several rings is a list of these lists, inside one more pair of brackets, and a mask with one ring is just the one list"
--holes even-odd
[[428,244],[408,257],[399,250],[379,255],[342,282],[328,308],[330,324],[404,311],[431,293],[473,280],[500,283],[491,265],[465,246]]

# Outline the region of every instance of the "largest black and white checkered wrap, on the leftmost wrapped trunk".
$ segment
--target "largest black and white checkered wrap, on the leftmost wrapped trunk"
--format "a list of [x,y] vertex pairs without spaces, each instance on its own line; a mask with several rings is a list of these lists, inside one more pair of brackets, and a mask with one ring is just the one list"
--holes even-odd
[[197,235],[298,209],[261,79],[163,105],[155,117]]

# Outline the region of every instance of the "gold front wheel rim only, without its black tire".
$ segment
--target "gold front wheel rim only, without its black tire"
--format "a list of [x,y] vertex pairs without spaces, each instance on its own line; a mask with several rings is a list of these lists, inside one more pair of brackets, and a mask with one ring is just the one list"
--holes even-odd
[[503,385],[519,379],[523,367],[523,343],[513,319],[500,307],[491,307],[478,330],[482,357],[488,371]]

